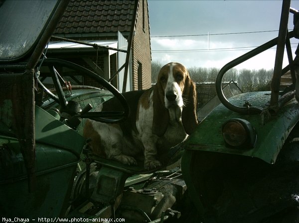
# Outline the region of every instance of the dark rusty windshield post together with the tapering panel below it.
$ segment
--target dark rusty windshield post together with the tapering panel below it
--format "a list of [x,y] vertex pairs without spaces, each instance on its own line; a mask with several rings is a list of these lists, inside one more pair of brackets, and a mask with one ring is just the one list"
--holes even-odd
[[67,4],[68,0],[61,0],[59,3],[53,18],[37,43],[25,70],[19,74],[1,74],[0,105],[5,100],[12,102],[11,128],[19,141],[24,158],[29,192],[35,189],[34,68]]

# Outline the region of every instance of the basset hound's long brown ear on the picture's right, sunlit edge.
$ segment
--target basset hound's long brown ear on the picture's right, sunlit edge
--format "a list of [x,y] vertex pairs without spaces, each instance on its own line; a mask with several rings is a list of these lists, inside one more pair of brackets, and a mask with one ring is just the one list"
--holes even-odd
[[182,111],[182,123],[185,132],[190,135],[198,125],[196,116],[196,87],[189,74],[185,79],[183,90],[184,106]]

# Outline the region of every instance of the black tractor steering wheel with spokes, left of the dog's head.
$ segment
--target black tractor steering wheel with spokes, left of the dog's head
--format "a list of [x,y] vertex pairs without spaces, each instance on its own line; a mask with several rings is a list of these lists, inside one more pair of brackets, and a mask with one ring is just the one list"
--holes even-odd
[[[64,61],[60,59],[54,58],[45,58],[43,61],[40,60],[38,62],[38,66],[42,63],[42,66],[48,66],[52,80],[54,82],[57,96],[53,94],[48,88],[46,88],[43,83],[37,78],[38,83],[45,89],[45,93],[52,98],[54,101],[60,104],[60,113],[67,113],[70,116],[77,117],[77,118],[89,118],[98,122],[104,123],[118,123],[126,118],[128,118],[130,114],[130,108],[128,105],[127,100],[124,96],[116,89],[113,85],[111,85],[107,80],[103,77],[95,74],[94,72],[81,67],[77,64],[74,64],[69,61]],[[66,97],[63,93],[58,73],[55,70],[54,66],[63,66],[75,71],[78,71],[80,74],[86,74],[89,77],[95,79],[97,82],[101,83],[107,90],[109,90],[120,102],[124,108],[124,111],[101,111],[101,112],[89,112],[92,109],[92,106],[88,104],[85,108],[81,110],[80,105],[75,101],[67,101]],[[79,106],[79,107],[78,107]],[[75,108],[74,108],[75,107]]]

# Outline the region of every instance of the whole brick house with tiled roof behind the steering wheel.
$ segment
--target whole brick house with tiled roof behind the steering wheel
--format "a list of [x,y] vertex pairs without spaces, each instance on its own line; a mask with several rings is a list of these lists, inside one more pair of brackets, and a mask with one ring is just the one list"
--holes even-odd
[[[70,0],[53,35],[127,50],[126,41],[131,24],[135,22],[127,91],[149,88],[151,51],[148,1],[137,1],[136,21],[132,21],[134,0]],[[107,80],[124,62],[125,53],[122,52],[83,48],[81,45],[61,48],[59,44],[62,44],[61,41],[51,39],[47,55],[88,67]],[[122,81],[123,74],[120,73],[112,83],[122,90]],[[82,84],[93,85],[87,77],[82,77]]]

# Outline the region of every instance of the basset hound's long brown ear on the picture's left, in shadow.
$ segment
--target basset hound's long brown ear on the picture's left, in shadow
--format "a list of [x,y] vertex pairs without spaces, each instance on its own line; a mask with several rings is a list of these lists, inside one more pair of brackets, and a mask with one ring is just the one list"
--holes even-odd
[[157,136],[163,136],[166,132],[169,114],[165,108],[164,91],[160,81],[153,86],[153,119],[152,119],[152,133]]

